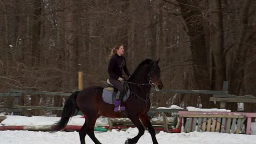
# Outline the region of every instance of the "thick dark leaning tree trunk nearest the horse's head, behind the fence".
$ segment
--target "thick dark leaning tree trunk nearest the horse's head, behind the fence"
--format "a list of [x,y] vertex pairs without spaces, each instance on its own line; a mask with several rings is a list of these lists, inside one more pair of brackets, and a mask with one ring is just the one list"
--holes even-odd
[[[186,0],[177,0],[185,19],[187,34],[190,37],[190,47],[192,52],[192,63],[193,63],[193,72],[196,81],[196,86],[198,89],[210,89],[210,80],[209,80],[209,70],[208,70],[208,59],[207,53],[208,49],[205,45],[204,38],[204,28],[202,22],[195,23],[193,19],[195,15],[202,15],[198,8],[196,0],[193,0],[193,3],[190,3]],[[194,6],[191,6],[193,4]],[[191,7],[190,7],[191,6]],[[203,108],[214,107],[213,102],[209,102],[210,95],[201,94],[201,102]]]

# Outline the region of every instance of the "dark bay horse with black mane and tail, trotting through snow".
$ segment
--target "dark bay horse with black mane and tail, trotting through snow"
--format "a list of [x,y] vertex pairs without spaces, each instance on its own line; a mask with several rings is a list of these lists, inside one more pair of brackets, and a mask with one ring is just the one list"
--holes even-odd
[[101,144],[94,135],[94,126],[98,114],[105,117],[121,118],[128,117],[131,122],[138,128],[138,134],[134,138],[129,138],[125,144],[136,144],[139,138],[144,134],[144,126],[148,129],[153,144],[158,144],[155,137],[155,129],[153,128],[147,112],[150,109],[150,89],[155,86],[156,90],[162,89],[163,83],[160,78],[160,68],[158,61],[146,59],[135,68],[132,75],[126,81],[130,89],[129,98],[122,104],[126,109],[122,112],[114,111],[114,104],[108,104],[103,101],[103,87],[91,86],[82,91],[75,91],[65,102],[62,116],[59,122],[52,126],[51,132],[63,129],[71,116],[81,111],[86,117],[85,123],[79,131],[80,143],[85,144],[86,134],[95,144]]

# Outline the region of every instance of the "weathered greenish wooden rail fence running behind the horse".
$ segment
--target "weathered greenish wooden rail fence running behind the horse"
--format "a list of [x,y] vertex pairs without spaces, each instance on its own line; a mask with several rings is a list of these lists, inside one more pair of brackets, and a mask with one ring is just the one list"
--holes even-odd
[[[223,82],[223,89],[222,91],[211,91],[211,90],[160,90],[155,91],[155,89],[151,89],[152,93],[186,93],[186,94],[212,94],[213,97],[210,98],[210,101],[220,101],[221,107],[225,108],[225,102],[256,102],[256,97],[254,96],[234,96],[228,94],[228,82]],[[63,110],[63,107],[44,107],[44,106],[24,106],[24,105],[18,105],[19,103],[19,96],[23,96],[24,94],[31,94],[33,95],[50,95],[50,96],[70,96],[71,93],[65,93],[65,92],[46,92],[46,91],[30,91],[30,90],[10,90],[10,93],[4,93],[0,94],[2,97],[7,96],[13,96],[13,107],[9,110],[0,110],[0,112],[3,111],[14,111],[19,112],[22,109],[35,109],[35,110]],[[15,111],[17,110],[17,111]],[[177,112],[176,109],[162,109],[162,110],[155,110],[152,109],[152,112]]]

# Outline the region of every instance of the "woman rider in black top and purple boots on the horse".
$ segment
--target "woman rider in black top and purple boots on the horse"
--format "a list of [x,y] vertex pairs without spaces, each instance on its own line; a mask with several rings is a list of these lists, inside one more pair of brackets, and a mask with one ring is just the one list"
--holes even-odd
[[124,95],[124,86],[121,81],[124,81],[122,69],[124,69],[125,74],[127,76],[131,76],[127,67],[125,57],[122,56],[124,54],[124,45],[117,44],[111,50],[109,55],[109,67],[107,72],[109,73],[109,81],[110,83],[118,89],[118,93],[116,95],[115,108],[114,111],[125,110],[125,107],[121,107],[121,100]]

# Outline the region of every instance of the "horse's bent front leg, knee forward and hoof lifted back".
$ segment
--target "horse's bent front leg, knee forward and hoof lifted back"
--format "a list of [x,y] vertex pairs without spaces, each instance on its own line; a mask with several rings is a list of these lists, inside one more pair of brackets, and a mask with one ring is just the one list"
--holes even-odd
[[136,144],[140,137],[144,134],[145,129],[143,125],[140,122],[140,119],[138,118],[137,115],[132,114],[129,115],[127,114],[127,117],[132,121],[132,123],[138,128],[138,135],[136,135],[134,138],[129,138],[128,140],[125,141],[125,144]]

